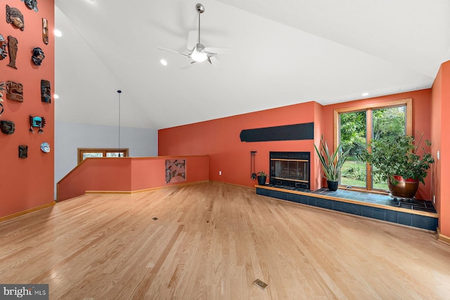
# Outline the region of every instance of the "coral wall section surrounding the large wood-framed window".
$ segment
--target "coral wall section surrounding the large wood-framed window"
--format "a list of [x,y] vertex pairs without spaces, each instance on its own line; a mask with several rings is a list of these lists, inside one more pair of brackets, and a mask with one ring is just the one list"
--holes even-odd
[[[392,100],[401,100],[406,98],[413,99],[413,134],[420,134],[423,132],[423,138],[432,140],[431,138],[431,89],[423,89],[420,91],[411,91],[407,93],[397,93],[388,96],[374,97],[363,100],[349,101],[346,103],[338,103],[334,105],[323,106],[322,113],[322,126],[323,126],[323,137],[330,145],[333,141],[334,136],[334,124],[333,124],[333,113],[335,109],[354,107],[361,105],[370,105],[374,103],[385,103]],[[435,143],[436,141],[432,141]],[[332,144],[333,145],[333,144]],[[425,143],[423,144],[425,146]],[[428,148],[430,151],[430,148]],[[432,166],[433,168],[433,166]],[[431,199],[431,172],[427,178],[425,178],[425,185],[420,183],[419,190],[416,194],[418,199],[430,200]]]

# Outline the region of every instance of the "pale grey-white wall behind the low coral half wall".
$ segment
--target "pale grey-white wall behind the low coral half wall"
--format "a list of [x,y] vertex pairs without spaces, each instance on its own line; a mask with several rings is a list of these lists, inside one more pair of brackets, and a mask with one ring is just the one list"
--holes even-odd
[[[55,123],[55,199],[56,183],[77,166],[78,148],[119,148],[117,126]],[[130,157],[158,156],[158,131],[120,128],[120,148],[128,148]]]

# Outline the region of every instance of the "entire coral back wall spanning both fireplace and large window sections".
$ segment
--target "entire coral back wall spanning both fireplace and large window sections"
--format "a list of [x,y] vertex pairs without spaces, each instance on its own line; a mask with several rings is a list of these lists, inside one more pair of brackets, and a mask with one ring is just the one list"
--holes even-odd
[[[336,108],[383,103],[413,98],[413,132],[424,132],[430,139],[431,89],[399,93],[389,96],[355,100],[336,105],[322,106],[309,102],[278,107],[272,110],[214,119],[207,122],[177,126],[158,131],[159,155],[210,155],[210,180],[238,185],[257,184],[250,178],[250,151],[257,151],[255,171],[269,171],[270,151],[311,152],[311,189],[325,186],[321,178],[321,166],[314,152],[321,135],[333,145],[333,112]],[[281,126],[314,122],[314,141],[272,141],[243,143],[239,134],[243,129]],[[219,175],[221,171],[221,175]],[[418,197],[430,199],[431,176],[421,185]]]

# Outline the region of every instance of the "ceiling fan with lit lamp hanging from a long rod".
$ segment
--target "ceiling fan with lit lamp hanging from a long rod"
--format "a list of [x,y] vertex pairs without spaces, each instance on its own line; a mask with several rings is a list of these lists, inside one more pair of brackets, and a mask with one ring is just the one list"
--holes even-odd
[[205,12],[205,6],[198,3],[195,5],[195,10],[198,12],[198,31],[191,31],[188,34],[188,53],[182,53],[179,51],[170,50],[167,48],[158,47],[158,49],[179,53],[182,56],[186,56],[192,59],[193,63],[202,63],[207,60],[212,65],[217,65],[219,61],[215,56],[220,52],[221,48],[205,47],[200,43],[200,13]]

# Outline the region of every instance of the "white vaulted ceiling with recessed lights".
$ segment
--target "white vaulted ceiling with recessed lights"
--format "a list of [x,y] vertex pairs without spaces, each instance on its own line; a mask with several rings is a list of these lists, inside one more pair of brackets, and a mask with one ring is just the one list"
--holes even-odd
[[339,103],[430,88],[450,60],[448,0],[201,0],[202,44],[231,49],[190,65],[157,47],[187,51],[198,1],[56,0],[56,120],[162,129]]

